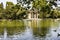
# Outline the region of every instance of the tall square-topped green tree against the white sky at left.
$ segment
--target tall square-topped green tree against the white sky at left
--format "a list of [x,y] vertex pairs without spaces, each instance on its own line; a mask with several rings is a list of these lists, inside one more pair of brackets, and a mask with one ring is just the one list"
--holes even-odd
[[16,19],[16,13],[20,9],[20,5],[13,4],[12,2],[6,2],[6,9],[4,17],[6,19]]

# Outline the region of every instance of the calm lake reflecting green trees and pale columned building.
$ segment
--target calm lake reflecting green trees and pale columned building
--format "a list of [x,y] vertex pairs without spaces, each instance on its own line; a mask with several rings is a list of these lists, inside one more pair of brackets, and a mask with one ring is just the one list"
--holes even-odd
[[10,24],[12,27],[6,27],[9,24],[0,27],[0,40],[60,40],[60,19],[25,19],[22,22],[18,20]]

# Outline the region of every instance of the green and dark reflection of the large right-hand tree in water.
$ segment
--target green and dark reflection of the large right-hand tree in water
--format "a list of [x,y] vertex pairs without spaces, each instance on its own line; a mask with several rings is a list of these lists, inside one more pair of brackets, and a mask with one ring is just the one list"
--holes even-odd
[[32,25],[33,35],[37,37],[38,36],[45,37],[46,34],[49,32],[50,26],[51,26],[51,20],[47,20],[47,19],[38,21],[38,24],[34,24],[33,22]]

